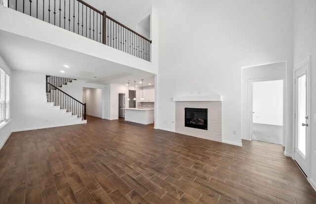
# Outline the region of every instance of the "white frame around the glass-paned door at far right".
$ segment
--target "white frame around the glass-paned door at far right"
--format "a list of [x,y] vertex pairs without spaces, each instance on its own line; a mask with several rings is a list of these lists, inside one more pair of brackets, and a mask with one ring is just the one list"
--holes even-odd
[[[311,109],[310,109],[310,85],[311,85],[311,77],[310,77],[310,73],[311,73],[311,55],[309,55],[307,58],[305,58],[300,64],[298,64],[294,70],[293,70],[293,138],[292,138],[292,159],[295,161],[295,146],[296,146],[296,131],[298,130],[297,128],[297,122],[296,122],[296,116],[297,116],[297,109],[296,109],[296,77],[295,77],[295,72],[298,71],[299,69],[301,69],[302,67],[304,67],[305,65],[307,65],[307,74],[306,74],[306,80],[307,80],[307,93],[306,93],[306,100],[307,100],[307,114],[309,117],[309,121],[308,123],[311,123],[310,120],[312,120],[311,118]],[[306,135],[306,155],[305,155],[305,159],[307,162],[307,172],[304,172],[305,175],[307,176],[307,178],[310,177],[310,172],[311,172],[311,163],[310,163],[310,131],[308,129],[307,131],[307,135]]]

